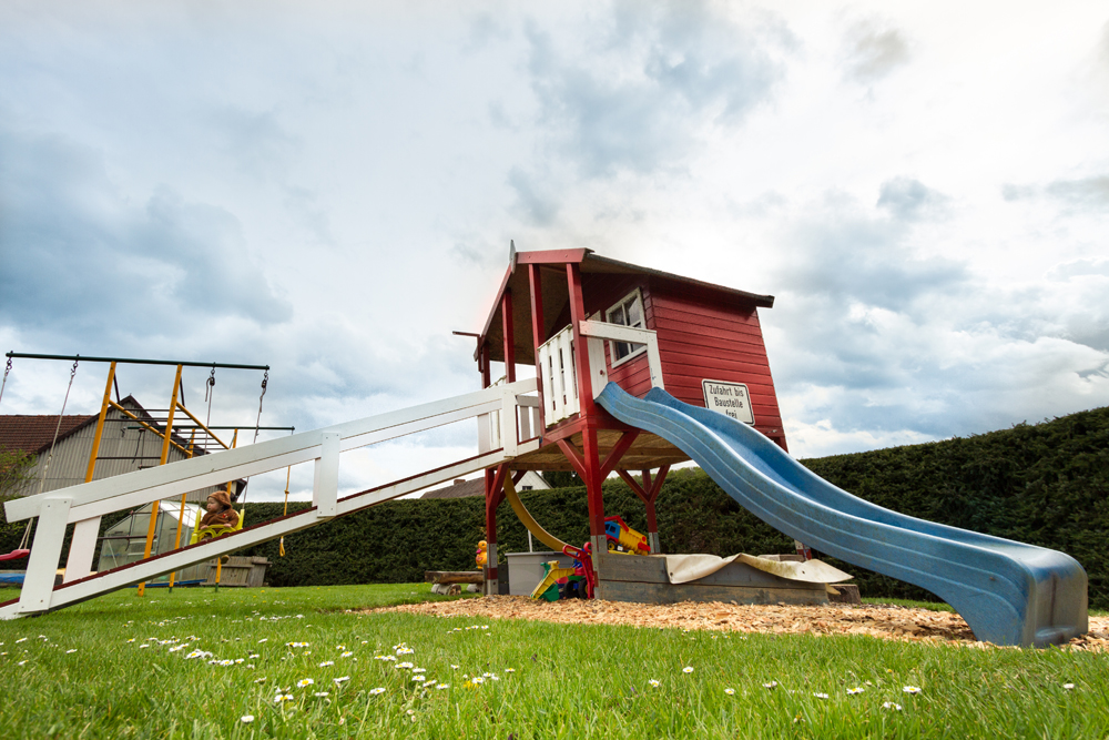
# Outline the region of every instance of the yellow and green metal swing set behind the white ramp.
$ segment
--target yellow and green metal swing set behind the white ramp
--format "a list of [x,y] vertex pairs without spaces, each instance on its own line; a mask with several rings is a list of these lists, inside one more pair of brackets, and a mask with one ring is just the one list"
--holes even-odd
[[[73,379],[77,376],[78,366],[80,363],[109,363],[108,371],[108,382],[104,386],[103,401],[101,403],[100,415],[96,419],[95,433],[93,436],[92,452],[89,456],[89,464],[85,469],[84,483],[89,483],[93,479],[95,473],[96,460],[100,458],[100,447],[101,439],[103,438],[104,427],[106,423],[112,422],[130,422],[133,424],[130,428],[135,428],[135,426],[143,432],[150,432],[162,440],[161,455],[159,456],[159,465],[165,465],[171,447],[175,448],[184,457],[191,458],[197,454],[206,454],[208,452],[215,452],[216,449],[233,449],[237,445],[238,432],[241,427],[232,426],[212,426],[212,399],[215,396],[215,372],[217,368],[221,369],[250,369],[250,371],[263,371],[262,378],[262,393],[258,395],[258,414],[254,425],[254,443],[258,440],[258,433],[262,429],[279,429],[293,432],[293,427],[263,427],[262,424],[262,407],[263,401],[266,395],[266,386],[269,381],[269,366],[268,365],[243,365],[243,364],[228,364],[228,363],[197,363],[187,361],[167,361],[167,359],[135,359],[135,358],[121,358],[121,357],[82,357],[80,355],[64,356],[64,355],[43,355],[43,354],[27,354],[27,353],[16,353],[9,352],[6,355],[8,357],[8,363],[4,367],[3,379],[0,382],[0,402],[3,399],[3,389],[8,383],[8,376],[12,369],[12,359],[24,358],[24,359],[52,359],[52,361],[72,361],[73,365],[70,368],[70,379],[69,385],[65,388],[65,397],[62,402],[62,409],[58,415],[58,424],[54,428],[53,439],[50,443],[50,452],[47,454],[45,460],[41,464],[39,470],[39,485],[38,493],[43,491],[47,480],[47,472],[50,467],[50,463],[53,459],[54,446],[58,443],[58,434],[61,429],[62,419],[65,415],[65,406],[69,404],[70,391],[73,388]],[[138,414],[131,409],[125,408],[120,399],[119,382],[116,378],[116,366],[120,364],[126,365],[169,365],[175,366],[176,373],[173,379],[173,391],[170,395],[170,404],[167,409],[152,409],[153,413],[164,413],[164,418],[154,418],[150,416],[147,418],[140,417]],[[207,414],[204,422],[193,414],[189,408],[185,407],[184,402],[184,388],[182,387],[181,377],[182,371],[185,367],[206,367],[211,368],[211,373],[205,381],[204,389],[205,397],[204,401],[207,404]],[[111,397],[112,388],[115,388],[115,401]],[[113,418],[109,418],[109,412],[114,409],[119,414]],[[183,414],[183,417],[187,417],[189,422],[181,420],[183,417],[176,416],[177,412]],[[177,420],[175,420],[177,419]],[[215,432],[223,429],[234,429],[234,435],[232,437],[231,444],[225,443],[221,439]],[[190,439],[187,443],[184,442],[182,434],[190,432]],[[197,438],[199,437],[199,438]],[[248,479],[248,478],[247,478]],[[226,488],[228,494],[232,491],[234,483],[228,483]],[[286,476],[286,500],[288,495],[288,483]],[[174,549],[181,548],[181,537],[182,537],[182,521],[184,519],[185,506],[186,506],[187,494],[181,495],[181,514],[177,517],[177,530],[176,538],[174,541]],[[226,534],[238,531],[243,527],[243,521],[245,519],[245,486],[243,490],[242,501],[238,511],[238,521],[234,526],[221,527],[215,531],[216,537],[221,537]],[[154,533],[156,530],[157,513],[161,511],[161,506],[159,501],[154,501],[151,505],[151,516],[146,531],[145,547],[143,549],[142,559],[149,559],[151,557],[151,551],[154,541]],[[84,578],[92,572],[92,555],[94,551],[94,545],[96,536],[100,528],[100,517],[92,519],[79,521],[74,526],[73,530],[73,546],[70,549],[70,556],[65,566],[65,582],[78,580]],[[19,560],[30,556],[31,550],[28,548],[28,538],[30,536],[31,527],[30,524],[23,528],[23,538],[20,546],[8,554],[0,555],[0,561],[6,560]],[[91,543],[89,540],[92,540]],[[196,517],[196,526],[192,533],[191,543],[195,544],[200,539],[200,517]],[[84,545],[79,547],[78,545]],[[284,553],[282,553],[284,555]],[[216,561],[216,584],[220,580],[220,566],[222,564]],[[173,588],[175,574],[170,575],[170,588]],[[145,582],[139,585],[139,596],[144,594]]]

